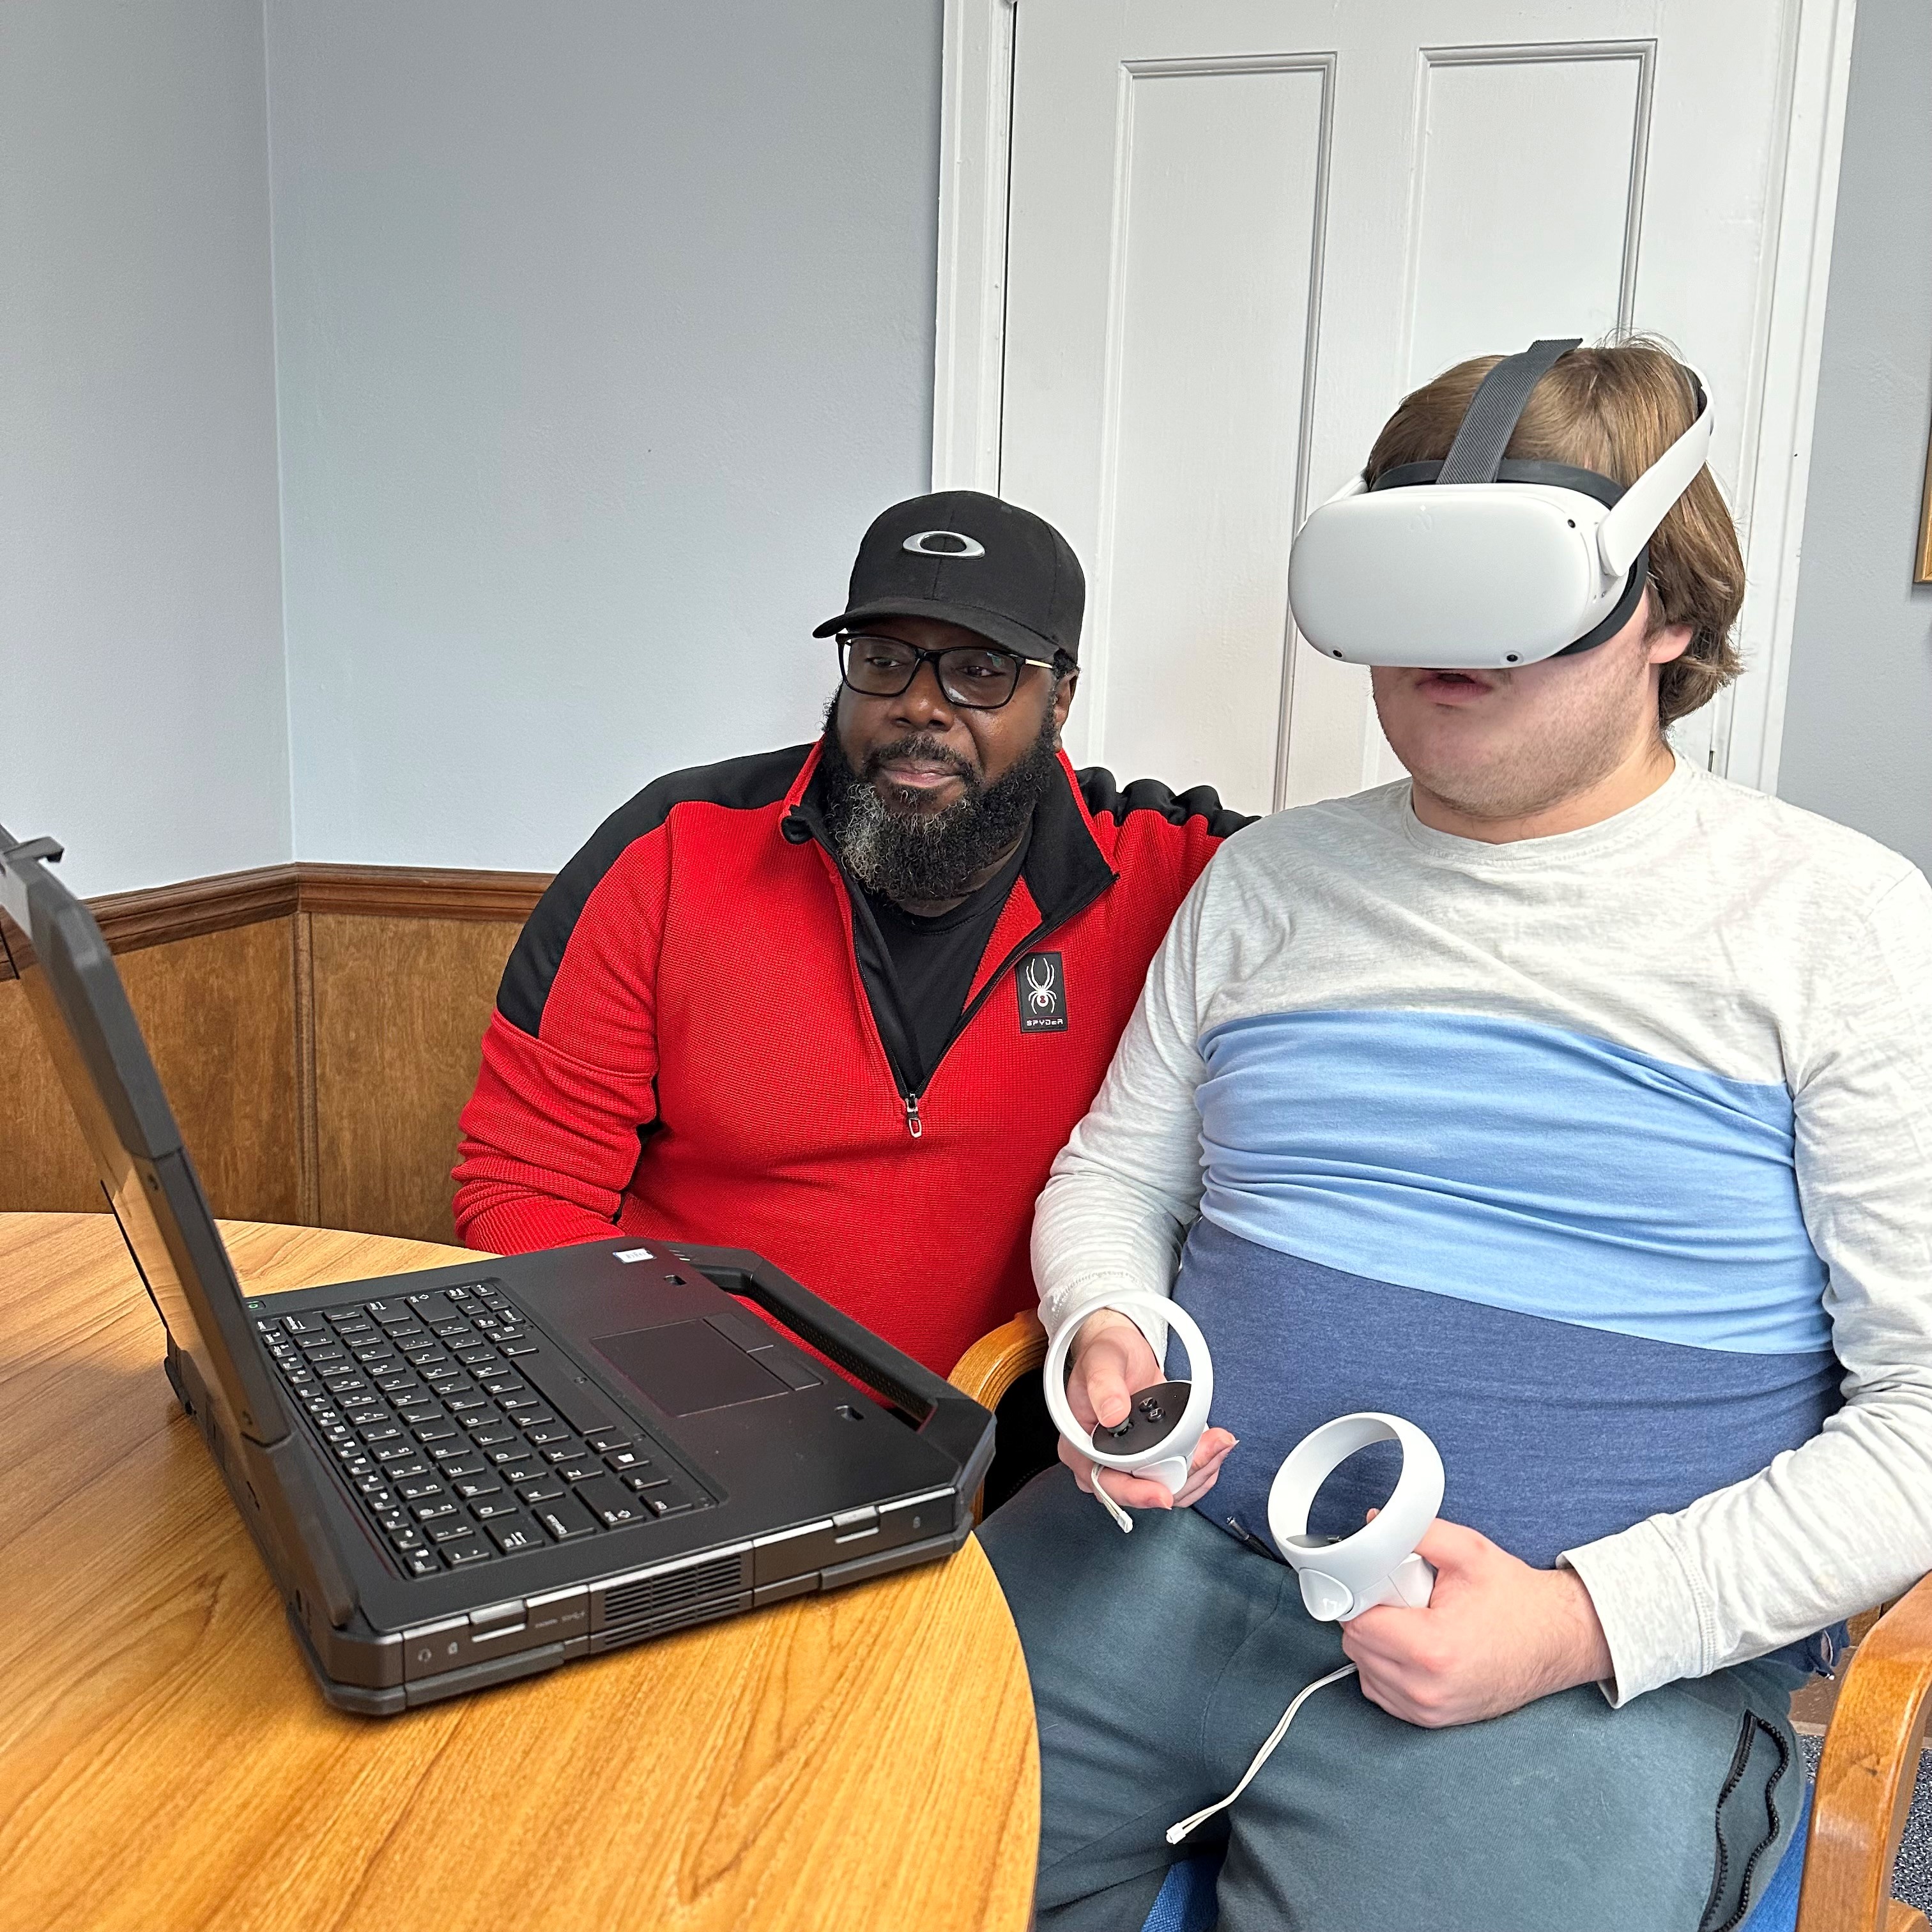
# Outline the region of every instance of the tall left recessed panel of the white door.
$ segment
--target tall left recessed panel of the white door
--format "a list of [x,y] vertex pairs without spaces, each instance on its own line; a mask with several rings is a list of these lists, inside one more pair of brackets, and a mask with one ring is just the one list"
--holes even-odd
[[1231,790],[1273,786],[1325,81],[1325,64],[1122,71],[1107,649],[1084,699],[1122,773],[1211,744]]

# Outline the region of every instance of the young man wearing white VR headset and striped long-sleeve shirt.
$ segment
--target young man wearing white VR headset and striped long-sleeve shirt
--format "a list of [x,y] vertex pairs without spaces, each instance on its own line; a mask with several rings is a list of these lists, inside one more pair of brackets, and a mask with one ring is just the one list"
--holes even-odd
[[[1072,1447],[981,1532],[1041,1928],[1138,1926],[1211,1837],[1169,1822],[1345,1660],[1221,1814],[1223,1932],[1737,1926],[1803,1669],[1932,1569],[1932,891],[1665,740],[1737,670],[1708,440],[1660,348],[1538,344],[1408,396],[1296,541],[1298,626],[1374,665],[1412,777],[1215,858],[1041,1196],[1049,1329],[1171,1289],[1240,1437],[1194,1509],[1107,1474],[1132,1536]],[[1159,1341],[1084,1321],[1082,1422]],[[1337,1627],[1264,1532],[1347,1410],[1418,1424],[1447,1490],[1428,1607]],[[1387,1497],[1372,1464],[1312,1530]]]

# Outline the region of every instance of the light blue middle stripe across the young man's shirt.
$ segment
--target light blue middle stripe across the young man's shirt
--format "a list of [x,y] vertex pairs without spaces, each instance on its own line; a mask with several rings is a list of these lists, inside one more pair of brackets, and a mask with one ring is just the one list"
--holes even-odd
[[1830,1349],[1791,1097],[1474,1012],[1209,1032],[1202,1215],[1279,1254],[1698,1349]]

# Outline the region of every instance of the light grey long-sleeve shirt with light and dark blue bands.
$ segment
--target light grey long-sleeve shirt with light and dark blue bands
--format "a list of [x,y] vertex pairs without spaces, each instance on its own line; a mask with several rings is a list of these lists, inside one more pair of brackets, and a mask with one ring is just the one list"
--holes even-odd
[[1932,889],[1683,763],[1501,846],[1406,782],[1277,813],[1175,920],[1034,1271],[1049,1331],[1202,1321],[1213,1520],[1387,1408],[1445,1517],[1582,1577],[1613,1700],[1779,1650],[1932,1569]]

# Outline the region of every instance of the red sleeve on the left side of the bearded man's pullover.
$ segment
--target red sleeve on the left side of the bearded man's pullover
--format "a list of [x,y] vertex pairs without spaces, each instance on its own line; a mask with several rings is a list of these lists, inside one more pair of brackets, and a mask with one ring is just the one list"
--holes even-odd
[[[638,1130],[657,1119],[657,956],[670,883],[670,831],[632,840],[576,916],[547,980],[535,1032],[504,1014],[483,1034],[483,1066],[462,1113],[456,1233],[522,1254],[609,1240],[638,1167]],[[545,908],[518,951],[543,943]],[[518,972],[512,960],[504,985]]]

